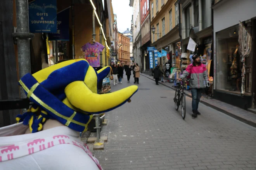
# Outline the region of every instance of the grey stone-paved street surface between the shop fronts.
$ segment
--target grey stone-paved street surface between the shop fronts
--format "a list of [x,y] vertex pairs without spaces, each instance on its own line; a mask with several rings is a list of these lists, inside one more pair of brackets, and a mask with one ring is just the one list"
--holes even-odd
[[[133,85],[112,86],[112,91]],[[206,105],[191,117],[175,110],[174,91],[140,77],[131,103],[106,113],[104,151],[93,151],[104,170],[255,170],[256,128]],[[92,144],[91,144],[92,145]]]

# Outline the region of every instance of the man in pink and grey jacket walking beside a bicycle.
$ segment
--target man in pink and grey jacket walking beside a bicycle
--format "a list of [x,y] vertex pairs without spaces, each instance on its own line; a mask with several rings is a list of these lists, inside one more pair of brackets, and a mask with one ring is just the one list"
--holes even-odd
[[179,81],[183,80],[190,75],[190,78],[194,79],[189,82],[192,94],[192,116],[197,117],[201,113],[198,111],[198,104],[202,96],[202,90],[204,89],[204,80],[208,83],[208,71],[206,66],[201,63],[201,59],[197,54],[192,57],[193,63],[190,64],[183,74],[178,78]]

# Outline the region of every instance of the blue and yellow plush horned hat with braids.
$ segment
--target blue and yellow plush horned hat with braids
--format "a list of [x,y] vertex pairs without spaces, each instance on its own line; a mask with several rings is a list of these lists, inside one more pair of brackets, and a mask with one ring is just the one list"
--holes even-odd
[[138,90],[132,85],[98,94],[97,83],[110,71],[110,66],[95,71],[85,59],[72,59],[24,75],[19,85],[34,104],[16,120],[29,125],[31,133],[41,131],[47,119],[56,119],[75,131],[86,131],[93,114],[125,104]]

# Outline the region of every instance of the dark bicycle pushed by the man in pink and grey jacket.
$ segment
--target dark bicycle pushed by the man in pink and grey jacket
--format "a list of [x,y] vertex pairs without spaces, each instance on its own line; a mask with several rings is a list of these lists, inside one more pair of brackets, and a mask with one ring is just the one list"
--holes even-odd
[[173,100],[175,103],[175,109],[177,111],[179,109],[179,106],[181,105],[183,120],[186,117],[186,93],[184,92],[185,81],[189,82],[191,80],[194,80],[194,79],[187,79],[182,81],[175,80],[176,83],[178,84],[178,88],[176,88],[175,90],[175,97],[173,98]]

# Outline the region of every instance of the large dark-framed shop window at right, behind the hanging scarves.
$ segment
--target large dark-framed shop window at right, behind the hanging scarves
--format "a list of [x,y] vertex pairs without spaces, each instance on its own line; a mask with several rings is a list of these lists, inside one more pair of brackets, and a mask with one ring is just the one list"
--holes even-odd
[[242,64],[239,55],[238,25],[216,33],[216,88],[241,90]]

